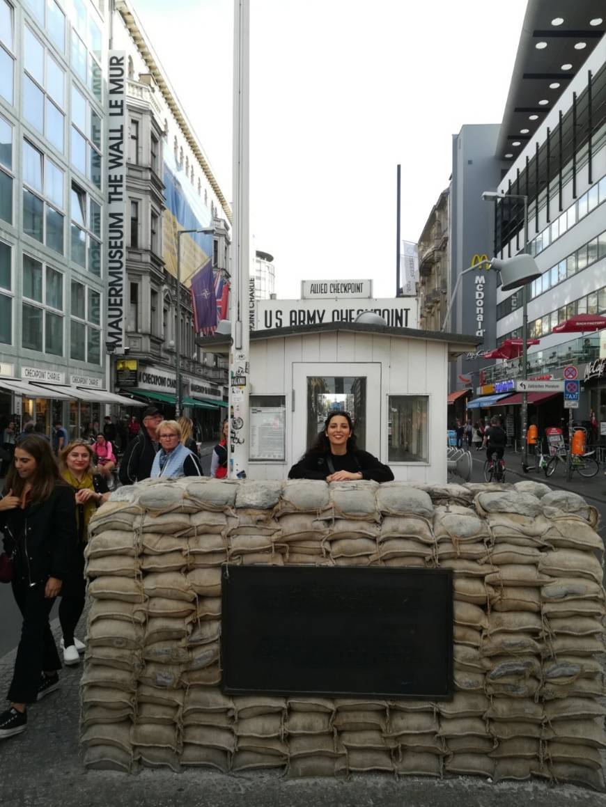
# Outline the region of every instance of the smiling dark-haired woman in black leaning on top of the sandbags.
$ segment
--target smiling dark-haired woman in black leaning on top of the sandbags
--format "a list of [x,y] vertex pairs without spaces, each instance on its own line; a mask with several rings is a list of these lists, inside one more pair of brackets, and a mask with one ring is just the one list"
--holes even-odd
[[391,468],[383,465],[368,451],[356,446],[356,435],[349,412],[331,412],[324,421],[311,448],[290,468],[289,479],[324,479],[325,482],[348,482],[374,479],[391,482]]

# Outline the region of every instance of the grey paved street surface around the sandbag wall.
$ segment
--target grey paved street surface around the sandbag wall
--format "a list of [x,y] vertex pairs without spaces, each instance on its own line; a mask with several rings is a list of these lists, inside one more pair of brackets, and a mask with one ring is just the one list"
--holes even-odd
[[[204,462],[205,466],[210,465],[210,454],[206,455]],[[507,462],[508,481],[516,481],[518,477],[514,469],[519,466],[519,455],[517,460],[515,455],[509,455]],[[474,481],[481,479],[482,465],[483,454],[474,454]],[[538,475],[528,478],[541,479]],[[555,483],[558,487],[585,495],[591,504],[600,508],[606,521],[606,479],[603,475],[593,480],[574,479],[571,483],[556,479]],[[12,619],[10,587],[2,587],[0,596],[2,623],[6,623]],[[58,641],[56,621],[53,629]],[[14,659],[15,650],[0,654],[0,689],[4,692]],[[81,765],[77,740],[80,675],[81,668],[66,668],[61,673],[61,690],[29,710],[27,731],[19,737],[0,741],[2,807],[106,807],[108,804],[115,807],[232,807],[243,804],[247,807],[519,807],[520,804],[606,807],[604,794],[570,785],[557,788],[541,782],[494,785],[469,777],[397,781],[391,776],[356,776],[350,780],[288,780],[270,772],[223,776],[203,769],[182,774],[144,770],[136,776],[113,771],[86,773]]]

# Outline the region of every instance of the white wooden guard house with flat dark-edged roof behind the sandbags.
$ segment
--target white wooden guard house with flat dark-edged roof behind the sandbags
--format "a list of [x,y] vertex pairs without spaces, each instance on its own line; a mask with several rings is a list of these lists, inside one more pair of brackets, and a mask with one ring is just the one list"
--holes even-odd
[[[198,341],[230,349],[229,337]],[[249,479],[286,479],[328,413],[345,409],[358,447],[395,479],[445,483],[448,363],[479,341],[353,322],[251,332]]]

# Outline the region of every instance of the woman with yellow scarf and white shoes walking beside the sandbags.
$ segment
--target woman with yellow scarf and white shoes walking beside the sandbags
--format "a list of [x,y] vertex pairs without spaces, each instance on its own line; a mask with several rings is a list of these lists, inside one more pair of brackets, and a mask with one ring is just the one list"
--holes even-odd
[[65,482],[76,495],[76,541],[70,554],[69,574],[61,588],[59,621],[63,638],[61,650],[65,664],[77,664],[84,651],[83,642],[74,636],[78,620],[84,610],[86,579],[84,578],[84,550],[88,539],[90,516],[109,499],[107,482],[94,467],[93,447],[85,440],[73,440],[59,455],[59,470]]

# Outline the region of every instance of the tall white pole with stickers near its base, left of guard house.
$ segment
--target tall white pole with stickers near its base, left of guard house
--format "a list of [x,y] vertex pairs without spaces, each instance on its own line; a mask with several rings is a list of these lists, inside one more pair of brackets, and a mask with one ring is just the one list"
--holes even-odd
[[234,0],[233,56],[233,265],[229,354],[228,476],[249,469],[249,31],[250,0]]

